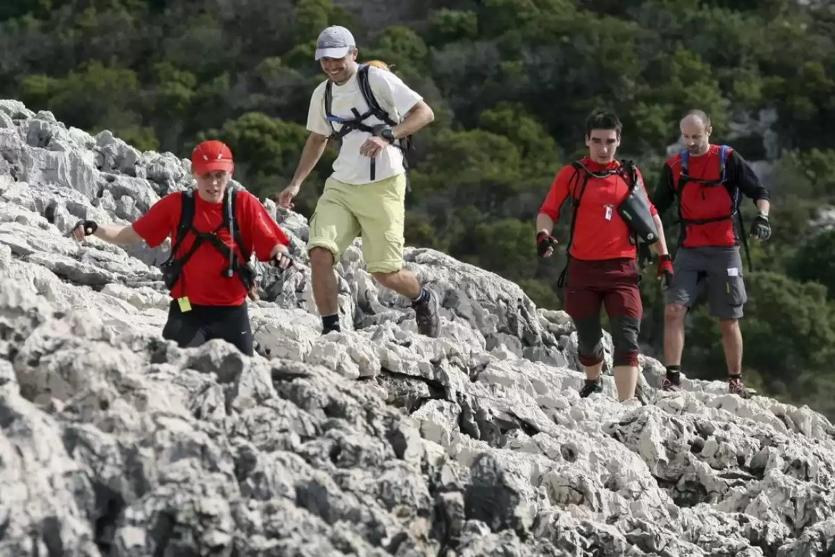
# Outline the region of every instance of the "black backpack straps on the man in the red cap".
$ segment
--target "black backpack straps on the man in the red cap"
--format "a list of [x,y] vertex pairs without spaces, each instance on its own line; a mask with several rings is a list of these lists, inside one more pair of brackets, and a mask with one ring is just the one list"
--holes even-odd
[[[235,201],[237,200],[237,196],[238,191],[233,189],[230,185],[227,185],[223,198],[223,204],[225,207],[223,222],[211,232],[200,232],[200,230],[195,229],[192,225],[195,218],[195,191],[186,190],[182,193],[181,199],[183,205],[180,211],[180,224],[177,225],[177,235],[173,245],[171,246],[171,252],[168,260],[164,261],[159,266],[160,271],[163,273],[165,287],[168,288],[169,291],[174,288],[176,282],[180,279],[180,275],[186,261],[189,261],[191,256],[195,255],[195,252],[205,241],[208,241],[212,246],[215,246],[215,249],[220,251],[221,254],[228,254],[229,266],[225,269],[225,271],[223,271],[223,276],[231,277],[237,274],[240,277],[240,281],[243,283],[245,289],[250,291],[255,282],[255,273],[248,265],[251,254],[246,253],[244,241],[240,235],[240,228],[238,228],[238,225],[235,222]],[[224,228],[229,230],[233,244],[238,246],[240,252],[245,255],[245,260],[241,261],[240,257],[235,254],[234,247],[227,246],[220,240],[220,238],[217,237],[216,233]],[[185,239],[185,235],[189,232],[197,236],[194,244],[192,244],[190,250],[187,251],[184,256],[180,257],[180,259],[175,259],[177,251],[180,249],[180,245]]]

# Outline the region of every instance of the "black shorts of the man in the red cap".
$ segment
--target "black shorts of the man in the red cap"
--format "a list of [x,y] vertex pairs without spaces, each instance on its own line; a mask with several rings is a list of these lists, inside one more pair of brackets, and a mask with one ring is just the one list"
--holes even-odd
[[177,342],[182,348],[199,347],[220,338],[235,345],[247,356],[255,353],[246,302],[240,306],[192,305],[191,310],[184,313],[180,311],[180,304],[172,300],[162,337]]

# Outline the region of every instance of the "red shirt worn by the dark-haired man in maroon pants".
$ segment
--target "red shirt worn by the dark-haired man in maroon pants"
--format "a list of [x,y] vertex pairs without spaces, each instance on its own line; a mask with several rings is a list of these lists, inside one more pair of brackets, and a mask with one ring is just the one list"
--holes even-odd
[[[580,160],[592,172],[612,170],[620,162],[612,161],[609,165],[600,165],[588,157]],[[638,179],[646,192],[644,177],[637,170]],[[539,212],[548,215],[554,224],[559,219],[559,209],[569,195],[577,196],[583,186],[584,170],[577,170],[572,165],[565,165],[559,170],[551,190],[545,198]],[[569,192],[570,189],[570,192]],[[577,220],[574,225],[574,239],[569,252],[574,259],[600,261],[620,257],[635,258],[635,245],[631,241],[629,224],[618,214],[620,205],[629,195],[630,185],[620,174],[598,178],[590,175],[585,191],[580,198]],[[649,200],[649,195],[647,195]],[[658,211],[650,203],[650,213]]]

